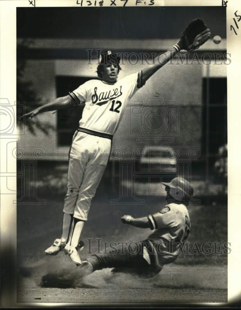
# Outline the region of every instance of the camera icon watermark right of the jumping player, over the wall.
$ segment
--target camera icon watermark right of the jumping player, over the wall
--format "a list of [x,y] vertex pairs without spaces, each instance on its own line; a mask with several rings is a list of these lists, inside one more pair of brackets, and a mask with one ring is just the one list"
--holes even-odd
[[130,107],[131,135],[179,135],[179,106],[161,98],[135,101]]

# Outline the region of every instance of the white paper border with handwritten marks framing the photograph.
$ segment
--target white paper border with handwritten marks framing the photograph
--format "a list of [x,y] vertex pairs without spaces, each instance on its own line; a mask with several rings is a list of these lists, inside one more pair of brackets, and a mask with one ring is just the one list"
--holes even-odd
[[[109,1],[110,2],[110,1]],[[116,1],[121,2],[121,1]],[[36,7],[77,7],[75,0],[36,0]],[[133,5],[130,5],[133,3]],[[175,0],[155,0],[157,6],[221,6],[222,0],[212,1],[175,1]],[[142,4],[139,4],[142,5]],[[119,3],[119,6],[123,6],[123,2]],[[128,6],[135,6],[135,1],[129,0]],[[7,98],[10,104],[16,102],[16,7],[29,7],[28,0],[3,0],[0,2],[0,98]],[[104,5],[105,7],[105,5]],[[34,8],[33,8],[34,9]],[[81,8],[80,8],[81,9]],[[240,175],[241,167],[239,154],[241,154],[241,144],[239,133],[241,132],[240,122],[240,107],[239,107],[239,89],[241,85],[240,72],[241,72],[241,29],[238,30],[238,34],[235,35],[233,31],[230,31],[230,26],[234,18],[234,12],[238,11],[241,14],[241,1],[229,0],[226,9],[226,33],[227,33],[227,53],[231,54],[231,64],[227,66],[227,108],[228,108],[228,242],[231,243],[232,252],[228,255],[228,303],[179,303],[182,307],[200,307],[200,306],[212,306],[223,307],[232,306],[240,303],[241,299],[241,208],[239,206],[239,192],[240,192]],[[241,28],[241,27],[240,27]],[[15,106],[16,109],[16,106]],[[16,111],[15,111],[16,112]],[[1,158],[2,160],[7,157],[11,162],[11,172],[16,173],[16,158],[13,158],[11,154],[4,152],[3,148],[5,142],[9,141],[15,143],[18,140],[16,127],[15,131],[10,137],[1,135]],[[6,153],[6,154],[5,154]],[[1,165],[1,174],[4,174],[5,167]],[[1,179],[1,187],[4,186]],[[11,188],[16,190],[16,179],[9,180]],[[12,307],[107,307],[105,304],[69,304],[69,303],[15,303],[16,300],[16,204],[13,201],[16,200],[16,194],[13,195],[1,195],[1,267],[7,266],[10,271],[10,277],[8,283],[4,282],[1,288],[2,307],[5,305],[11,305]],[[6,265],[5,260],[8,261]],[[4,273],[6,270],[4,270]],[[2,275],[3,272],[1,272]],[[6,281],[6,277],[5,277]],[[115,307],[147,307],[147,304],[113,304]],[[168,307],[176,307],[176,303],[148,303],[148,307],[160,307],[165,305]],[[108,305],[110,306],[110,305]]]

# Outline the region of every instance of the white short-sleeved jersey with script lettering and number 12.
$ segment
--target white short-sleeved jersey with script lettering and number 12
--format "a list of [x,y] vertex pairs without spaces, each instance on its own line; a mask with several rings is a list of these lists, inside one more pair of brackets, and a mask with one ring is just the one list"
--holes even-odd
[[141,71],[132,73],[114,84],[94,79],[76,88],[69,94],[73,103],[85,105],[79,126],[114,135],[127,102],[142,86],[141,76]]

